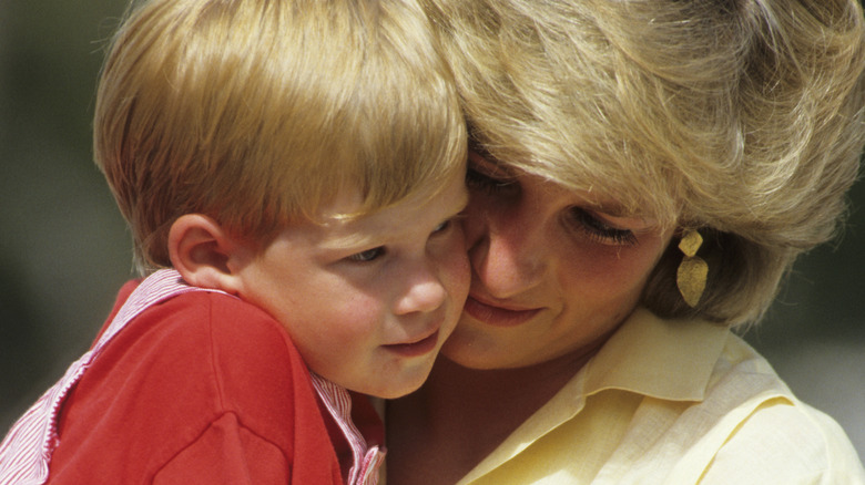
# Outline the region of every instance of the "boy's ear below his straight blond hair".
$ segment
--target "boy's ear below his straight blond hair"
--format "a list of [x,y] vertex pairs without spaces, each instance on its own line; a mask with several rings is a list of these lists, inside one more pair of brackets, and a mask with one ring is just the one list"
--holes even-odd
[[237,295],[241,288],[237,271],[247,251],[218,223],[201,214],[184,214],[169,230],[172,266],[194,287]]

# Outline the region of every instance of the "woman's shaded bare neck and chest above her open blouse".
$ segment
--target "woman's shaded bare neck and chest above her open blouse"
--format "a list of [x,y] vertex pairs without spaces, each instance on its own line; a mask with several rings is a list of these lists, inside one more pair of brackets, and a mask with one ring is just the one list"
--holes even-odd
[[387,407],[388,483],[452,484],[546,404],[594,354],[474,370],[439,357],[427,383]]

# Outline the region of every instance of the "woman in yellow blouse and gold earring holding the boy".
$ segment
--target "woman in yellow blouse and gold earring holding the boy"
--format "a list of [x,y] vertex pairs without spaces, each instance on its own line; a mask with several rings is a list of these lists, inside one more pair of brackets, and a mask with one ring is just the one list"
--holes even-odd
[[730,329],[830,239],[855,0],[429,0],[474,138],[462,320],[388,482],[865,483]]

